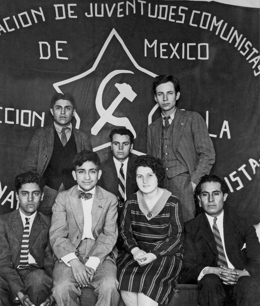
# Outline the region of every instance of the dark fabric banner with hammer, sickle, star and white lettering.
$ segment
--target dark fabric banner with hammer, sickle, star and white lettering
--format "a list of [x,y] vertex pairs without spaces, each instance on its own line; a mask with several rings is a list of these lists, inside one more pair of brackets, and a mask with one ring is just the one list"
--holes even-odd
[[153,78],[179,78],[178,107],[205,119],[229,211],[260,222],[259,9],[203,1],[1,1],[1,213],[17,208],[14,177],[55,92],[76,100],[73,125],[101,161],[125,126],[134,154],[160,112]]

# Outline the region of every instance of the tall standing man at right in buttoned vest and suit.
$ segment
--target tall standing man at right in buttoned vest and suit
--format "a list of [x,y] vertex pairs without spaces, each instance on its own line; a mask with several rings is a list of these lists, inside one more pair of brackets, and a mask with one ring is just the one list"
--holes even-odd
[[195,215],[193,192],[199,178],[209,174],[215,162],[213,143],[200,114],[176,107],[180,97],[176,77],[157,76],[153,91],[162,114],[147,128],[146,153],[164,163],[163,187],[180,199],[184,221],[188,221]]

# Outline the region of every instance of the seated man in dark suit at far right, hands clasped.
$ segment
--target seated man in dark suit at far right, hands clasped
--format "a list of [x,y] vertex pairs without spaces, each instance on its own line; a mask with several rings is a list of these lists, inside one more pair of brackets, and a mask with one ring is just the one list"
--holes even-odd
[[200,306],[259,306],[260,244],[254,226],[223,210],[228,186],[204,175],[195,189],[203,212],[185,223],[185,273],[198,280]]

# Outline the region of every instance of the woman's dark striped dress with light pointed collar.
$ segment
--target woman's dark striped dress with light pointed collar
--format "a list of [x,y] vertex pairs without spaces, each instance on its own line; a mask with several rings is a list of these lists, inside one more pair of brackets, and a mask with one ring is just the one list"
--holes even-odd
[[[183,259],[183,215],[178,198],[164,190],[149,210],[139,190],[126,201],[121,218],[125,251],[117,259],[119,289],[142,292],[158,304],[168,304]],[[157,259],[139,266],[131,254],[137,246]]]

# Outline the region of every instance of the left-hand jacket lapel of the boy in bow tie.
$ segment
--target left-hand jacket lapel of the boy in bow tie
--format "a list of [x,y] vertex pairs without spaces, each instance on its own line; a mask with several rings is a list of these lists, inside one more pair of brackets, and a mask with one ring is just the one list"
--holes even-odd
[[81,198],[78,197],[78,185],[74,186],[71,194],[69,195],[69,201],[75,221],[80,229],[81,235],[83,235],[84,214]]

